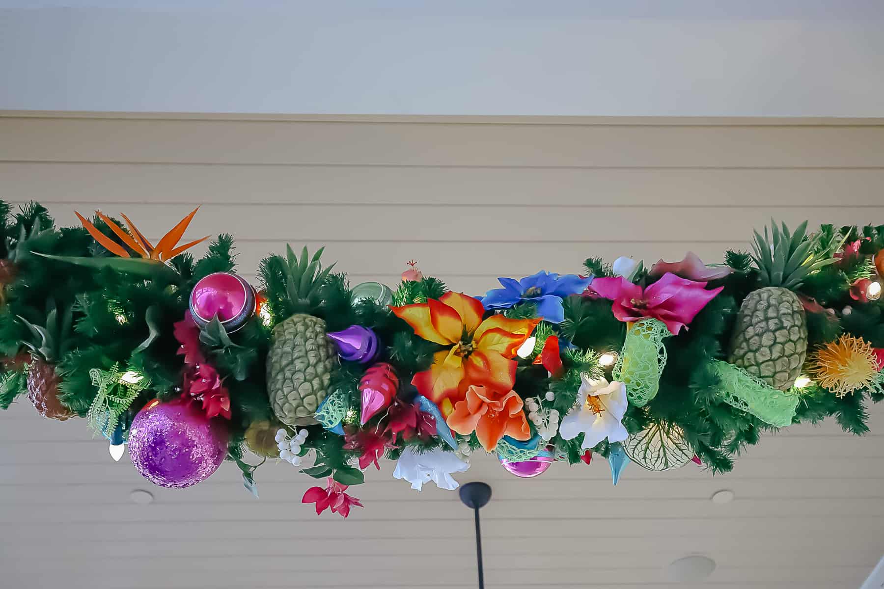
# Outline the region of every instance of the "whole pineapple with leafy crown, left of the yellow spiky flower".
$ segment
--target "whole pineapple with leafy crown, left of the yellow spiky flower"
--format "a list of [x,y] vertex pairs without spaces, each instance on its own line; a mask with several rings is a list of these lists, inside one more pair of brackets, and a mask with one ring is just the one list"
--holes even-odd
[[762,237],[755,232],[753,260],[762,288],[743,300],[737,314],[728,361],[773,389],[787,390],[801,374],[807,355],[804,306],[794,290],[804,277],[834,261],[814,260],[807,222],[789,234],[771,224]]

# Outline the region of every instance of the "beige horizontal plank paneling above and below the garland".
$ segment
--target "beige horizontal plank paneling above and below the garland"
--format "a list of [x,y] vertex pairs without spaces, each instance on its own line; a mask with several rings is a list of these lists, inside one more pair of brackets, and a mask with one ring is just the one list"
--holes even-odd
[[[130,215],[156,237],[202,205],[189,238],[229,231],[240,273],[286,242],[338,261],[351,282],[395,283],[404,262],[458,291],[590,256],[720,261],[771,216],[884,223],[878,121],[447,119],[0,115],[5,200]],[[196,253],[202,252],[197,249]],[[673,589],[689,554],[703,586],[856,587],[884,552],[884,406],[873,434],[833,421],[766,434],[724,476],[688,464],[554,464],[533,480],[474,457],[488,480],[486,586]],[[224,464],[183,490],[151,487],[80,422],[0,414],[0,564],[6,585],[475,587],[472,520],[456,495],[392,480],[354,487],[347,521],[300,503],[288,464],[256,473],[261,499]],[[128,501],[149,488],[156,501]],[[728,488],[735,501],[709,501]],[[54,557],[46,559],[44,555]]]

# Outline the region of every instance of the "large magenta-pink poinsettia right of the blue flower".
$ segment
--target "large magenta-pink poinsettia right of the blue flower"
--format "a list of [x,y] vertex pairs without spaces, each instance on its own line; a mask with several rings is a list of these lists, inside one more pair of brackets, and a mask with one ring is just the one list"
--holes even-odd
[[613,300],[613,315],[620,321],[657,319],[677,335],[723,288],[707,291],[705,286],[667,272],[646,289],[616,276],[596,278],[589,291]]

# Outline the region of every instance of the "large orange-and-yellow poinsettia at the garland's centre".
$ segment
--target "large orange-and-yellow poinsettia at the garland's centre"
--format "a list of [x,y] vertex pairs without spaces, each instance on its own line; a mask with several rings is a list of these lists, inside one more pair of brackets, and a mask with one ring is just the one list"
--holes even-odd
[[423,339],[446,346],[433,356],[429,370],[415,374],[411,383],[421,395],[441,405],[447,415],[453,403],[466,396],[470,385],[493,390],[513,389],[515,351],[531,335],[539,319],[509,319],[492,315],[482,321],[484,306],[460,292],[446,292],[436,300],[393,306]]

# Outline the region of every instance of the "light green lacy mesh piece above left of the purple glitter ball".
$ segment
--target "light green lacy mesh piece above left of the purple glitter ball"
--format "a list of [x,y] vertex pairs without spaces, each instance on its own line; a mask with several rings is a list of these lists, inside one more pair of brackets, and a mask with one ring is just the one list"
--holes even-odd
[[93,368],[89,371],[89,378],[98,393],[89,406],[86,419],[96,434],[110,437],[117,429],[120,416],[128,411],[129,405],[149,387],[150,382],[143,374],[120,372],[116,364],[110,370]]

